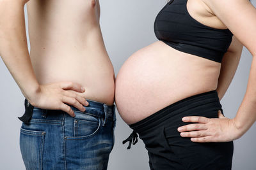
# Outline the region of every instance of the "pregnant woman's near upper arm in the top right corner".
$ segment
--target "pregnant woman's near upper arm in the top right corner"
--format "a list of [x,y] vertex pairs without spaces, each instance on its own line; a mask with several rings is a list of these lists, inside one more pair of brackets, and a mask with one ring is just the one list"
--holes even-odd
[[[256,8],[248,0],[204,0],[214,15],[256,56]],[[230,46],[230,48],[234,48]]]

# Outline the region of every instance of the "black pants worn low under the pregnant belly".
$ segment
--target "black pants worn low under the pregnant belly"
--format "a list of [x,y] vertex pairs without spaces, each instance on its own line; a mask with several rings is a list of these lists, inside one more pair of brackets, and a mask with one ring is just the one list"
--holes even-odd
[[223,113],[218,93],[212,90],[182,99],[129,126],[145,143],[152,170],[231,169],[233,141],[193,143],[177,131],[188,124],[182,122],[182,117],[218,118],[218,110]]

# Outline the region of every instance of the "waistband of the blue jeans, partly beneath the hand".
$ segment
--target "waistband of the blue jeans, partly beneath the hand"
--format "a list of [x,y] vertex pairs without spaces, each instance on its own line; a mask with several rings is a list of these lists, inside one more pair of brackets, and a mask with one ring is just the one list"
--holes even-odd
[[[86,108],[86,111],[84,111],[84,112],[86,112],[86,113],[89,112],[90,114],[95,115],[97,117],[103,117],[105,119],[104,122],[106,122],[106,119],[116,120],[115,104],[109,106],[105,103],[100,103],[98,101],[93,101],[90,99],[86,99],[86,101],[88,101],[89,105],[84,106],[84,108]],[[33,110],[37,107],[32,106],[27,99],[25,99],[25,101],[24,101],[24,106],[25,106],[25,113],[24,113],[24,115],[22,115],[22,117],[18,117],[18,118],[22,122],[28,124],[29,120],[31,119],[31,117],[33,115]],[[79,111],[80,113],[83,113],[83,111],[78,110],[74,106],[70,106],[70,108],[74,111]],[[37,108],[37,109],[42,110],[44,112],[56,111],[56,110],[45,110],[45,109],[41,109],[41,108]],[[60,110],[58,110],[58,111],[60,111]]]

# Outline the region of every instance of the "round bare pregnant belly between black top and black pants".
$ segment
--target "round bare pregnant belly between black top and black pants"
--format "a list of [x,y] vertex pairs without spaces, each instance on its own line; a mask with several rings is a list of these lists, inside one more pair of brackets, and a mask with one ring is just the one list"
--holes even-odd
[[220,63],[157,41],[127,59],[116,77],[118,113],[134,124],[195,94],[215,90]]

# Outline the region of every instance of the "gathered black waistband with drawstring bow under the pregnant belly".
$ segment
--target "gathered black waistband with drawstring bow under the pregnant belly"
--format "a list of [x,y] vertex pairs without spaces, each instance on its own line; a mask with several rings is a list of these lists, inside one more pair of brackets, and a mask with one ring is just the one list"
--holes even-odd
[[164,120],[168,120],[168,118],[175,117],[175,115],[185,113],[186,111],[196,107],[201,107],[202,109],[211,108],[211,110],[221,110],[221,113],[223,114],[218,92],[216,90],[189,96],[170,104],[169,106],[166,106],[162,110],[157,111],[156,113],[144,118],[143,120],[140,120],[139,122],[136,122],[135,124],[129,125],[129,127],[131,127],[131,129],[134,131],[127,139],[123,141],[123,144],[129,141],[129,146],[127,149],[131,148],[131,143],[133,145],[137,143],[138,134],[140,134],[140,132],[149,131],[150,129],[161,124],[161,122],[164,122]]

